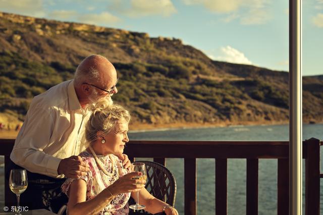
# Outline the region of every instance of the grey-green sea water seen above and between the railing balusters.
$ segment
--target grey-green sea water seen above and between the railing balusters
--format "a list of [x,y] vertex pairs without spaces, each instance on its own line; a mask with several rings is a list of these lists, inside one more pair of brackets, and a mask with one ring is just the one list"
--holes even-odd
[[[303,125],[303,139],[323,140],[323,125]],[[131,140],[232,140],[232,141],[288,141],[288,125],[232,126],[219,128],[177,129],[130,132]],[[321,156],[323,150],[320,150]],[[139,158],[142,159],[142,158]],[[151,160],[151,159],[150,159]],[[4,158],[0,156],[0,203],[4,202]],[[177,181],[176,208],[184,214],[184,159],[167,158],[166,166]],[[321,165],[322,167],[322,165]],[[303,171],[305,170],[303,162]],[[322,168],[321,168],[321,172]],[[259,159],[258,214],[277,214],[277,159]],[[303,185],[304,185],[303,174]],[[320,190],[323,190],[321,184]],[[197,159],[197,212],[215,213],[214,159]],[[303,189],[303,203],[304,199]],[[23,195],[23,194],[22,194]],[[320,211],[323,214],[323,193]],[[2,204],[1,204],[2,205]],[[246,159],[228,159],[228,214],[246,214]],[[304,206],[303,206],[303,214]]]

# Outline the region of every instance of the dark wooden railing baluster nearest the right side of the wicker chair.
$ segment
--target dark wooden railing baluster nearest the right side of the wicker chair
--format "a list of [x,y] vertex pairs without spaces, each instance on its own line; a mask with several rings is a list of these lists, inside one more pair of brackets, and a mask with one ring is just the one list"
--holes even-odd
[[184,213],[196,215],[196,159],[184,158]]

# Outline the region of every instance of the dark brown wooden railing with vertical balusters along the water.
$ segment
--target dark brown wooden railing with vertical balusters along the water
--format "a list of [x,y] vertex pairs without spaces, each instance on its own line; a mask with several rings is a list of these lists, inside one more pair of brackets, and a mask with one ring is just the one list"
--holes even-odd
[[[9,159],[14,140],[0,139],[5,162]],[[303,141],[305,159],[305,214],[319,215],[320,141],[314,138]],[[247,160],[246,214],[258,214],[258,159],[278,159],[277,214],[289,214],[289,143],[287,141],[130,141],[125,153],[134,157],[153,157],[166,165],[165,158],[184,158],[184,211],[196,211],[196,158],[214,158],[216,162],[216,214],[228,213],[227,160]],[[8,184],[5,184],[8,187]],[[7,190],[7,189],[6,189]],[[10,191],[6,191],[10,192]],[[5,193],[5,198],[6,198]]]

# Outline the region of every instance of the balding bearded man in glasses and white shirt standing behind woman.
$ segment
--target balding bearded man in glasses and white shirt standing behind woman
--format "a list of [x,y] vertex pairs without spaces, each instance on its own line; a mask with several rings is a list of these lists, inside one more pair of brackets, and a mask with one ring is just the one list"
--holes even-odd
[[[86,175],[88,167],[75,156],[85,149],[85,123],[91,105],[100,99],[112,102],[117,81],[114,66],[92,55],[80,63],[73,80],[35,96],[10,155],[12,161],[32,173],[55,178]],[[119,157],[125,168],[130,166],[126,155]],[[39,178],[38,174],[28,173],[28,177]]]

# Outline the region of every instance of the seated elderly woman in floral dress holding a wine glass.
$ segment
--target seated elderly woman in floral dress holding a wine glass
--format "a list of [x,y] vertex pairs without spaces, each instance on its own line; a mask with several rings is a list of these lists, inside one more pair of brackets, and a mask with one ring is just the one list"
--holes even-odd
[[[129,141],[130,115],[120,105],[98,104],[86,125],[89,143],[79,156],[90,171],[79,179],[67,179],[62,190],[69,196],[68,214],[128,214],[130,196],[150,213],[165,211],[177,215],[174,207],[154,198],[144,188],[145,180],[133,179],[140,172],[128,172],[114,154],[121,154]],[[137,177],[138,178],[138,177]]]

